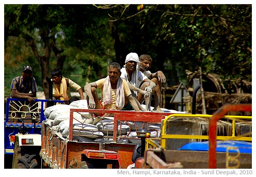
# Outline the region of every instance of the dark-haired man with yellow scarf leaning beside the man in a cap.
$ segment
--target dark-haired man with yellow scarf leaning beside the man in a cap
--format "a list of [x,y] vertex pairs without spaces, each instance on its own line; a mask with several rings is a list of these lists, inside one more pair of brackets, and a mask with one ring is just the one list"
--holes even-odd
[[81,86],[74,83],[71,79],[64,78],[62,76],[62,71],[60,71],[59,68],[51,71],[51,77],[53,83],[52,97],[55,97],[55,99],[65,100],[65,104],[69,104],[69,100],[72,97],[70,89],[74,89],[80,94],[80,98],[84,99]]

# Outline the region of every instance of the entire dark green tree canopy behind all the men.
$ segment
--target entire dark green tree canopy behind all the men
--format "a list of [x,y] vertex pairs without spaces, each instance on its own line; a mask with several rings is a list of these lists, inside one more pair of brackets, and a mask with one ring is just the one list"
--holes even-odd
[[185,70],[223,80],[252,79],[252,5],[5,5],[5,95],[31,65],[48,97],[46,76],[61,68],[81,87],[123,66],[130,52],[151,55],[166,86]]

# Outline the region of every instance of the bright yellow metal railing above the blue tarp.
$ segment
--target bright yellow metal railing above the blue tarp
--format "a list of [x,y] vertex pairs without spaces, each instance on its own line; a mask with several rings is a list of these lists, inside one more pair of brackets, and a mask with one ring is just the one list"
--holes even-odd
[[[210,118],[212,115],[199,115],[199,114],[172,114],[167,116],[163,123],[161,129],[161,138],[147,138],[146,139],[146,149],[158,148],[160,145],[166,149],[166,139],[209,139],[209,135],[171,135],[166,134],[166,123],[170,118],[173,117],[184,117],[184,118]],[[245,136],[235,136],[235,123],[236,120],[245,119],[251,120],[251,116],[223,116],[226,119],[232,119],[232,136],[217,136],[217,140],[240,140],[240,141],[252,141],[252,137]],[[206,119],[208,120],[208,119]],[[155,140],[160,140],[160,145],[155,142]]]

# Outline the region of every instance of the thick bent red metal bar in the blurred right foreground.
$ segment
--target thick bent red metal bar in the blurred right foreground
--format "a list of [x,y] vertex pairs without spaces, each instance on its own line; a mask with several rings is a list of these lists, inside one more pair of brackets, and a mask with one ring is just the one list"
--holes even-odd
[[216,126],[217,121],[229,111],[249,111],[251,104],[225,104],[209,119],[209,168],[216,168]]

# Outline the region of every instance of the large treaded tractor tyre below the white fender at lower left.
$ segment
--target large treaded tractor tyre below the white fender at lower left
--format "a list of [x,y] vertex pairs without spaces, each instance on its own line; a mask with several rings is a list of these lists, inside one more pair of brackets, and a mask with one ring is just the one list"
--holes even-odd
[[39,151],[39,148],[36,146],[19,146],[19,142],[15,142],[12,168],[41,168]]

